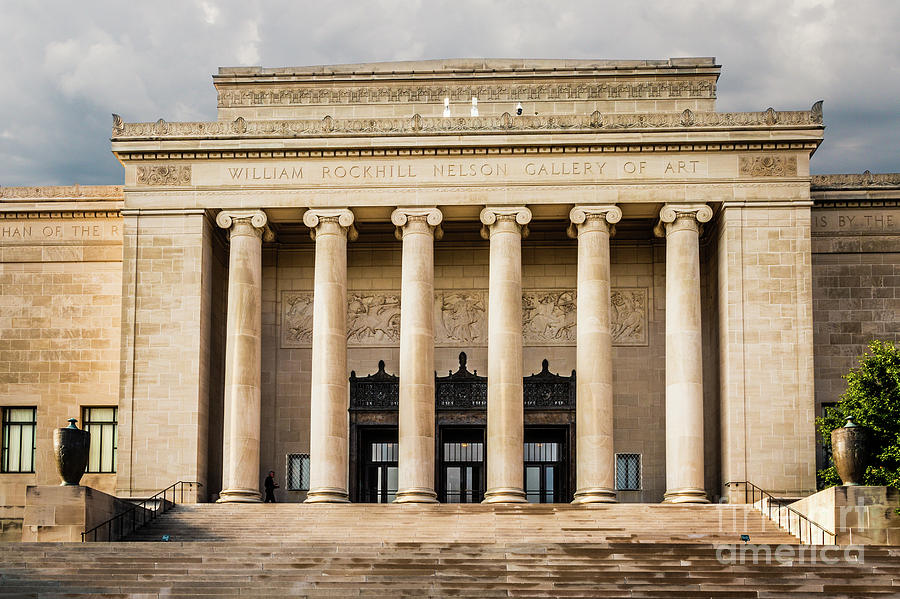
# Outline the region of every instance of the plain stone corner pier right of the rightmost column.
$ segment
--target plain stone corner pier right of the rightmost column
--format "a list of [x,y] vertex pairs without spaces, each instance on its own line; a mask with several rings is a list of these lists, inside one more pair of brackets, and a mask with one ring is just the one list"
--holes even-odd
[[718,217],[722,483],[815,489],[808,206]]

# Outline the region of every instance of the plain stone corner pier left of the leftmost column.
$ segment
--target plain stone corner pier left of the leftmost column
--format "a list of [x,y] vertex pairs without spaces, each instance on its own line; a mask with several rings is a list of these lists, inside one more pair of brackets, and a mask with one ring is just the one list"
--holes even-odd
[[222,360],[213,343],[224,285],[212,267],[217,235],[202,210],[126,213],[119,495],[207,484],[210,398],[221,403],[221,383],[211,381]]

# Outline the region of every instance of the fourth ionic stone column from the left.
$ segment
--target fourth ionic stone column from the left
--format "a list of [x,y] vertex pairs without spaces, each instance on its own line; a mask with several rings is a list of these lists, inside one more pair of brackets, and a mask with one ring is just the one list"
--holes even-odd
[[488,283],[487,491],[485,503],[522,503],[522,237],[531,211],[524,206],[481,211],[491,242]]

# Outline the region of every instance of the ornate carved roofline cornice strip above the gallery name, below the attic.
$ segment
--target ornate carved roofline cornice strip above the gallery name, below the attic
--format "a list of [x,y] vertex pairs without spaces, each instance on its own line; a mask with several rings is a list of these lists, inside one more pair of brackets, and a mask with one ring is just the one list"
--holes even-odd
[[718,129],[821,129],[822,103],[811,110],[762,112],[635,113],[589,115],[423,117],[302,120],[246,120],[167,123],[126,123],[113,115],[112,141],[210,139],[285,139],[371,136],[442,136],[528,133],[604,133],[697,131]]

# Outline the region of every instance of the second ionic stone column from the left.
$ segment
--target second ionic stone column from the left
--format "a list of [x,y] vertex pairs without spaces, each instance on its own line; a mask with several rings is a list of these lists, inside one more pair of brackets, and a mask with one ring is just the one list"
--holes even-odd
[[347,240],[353,213],[310,209],[303,224],[316,242],[307,503],[346,503],[350,387],[347,382]]

